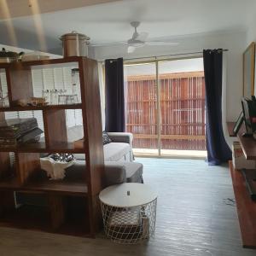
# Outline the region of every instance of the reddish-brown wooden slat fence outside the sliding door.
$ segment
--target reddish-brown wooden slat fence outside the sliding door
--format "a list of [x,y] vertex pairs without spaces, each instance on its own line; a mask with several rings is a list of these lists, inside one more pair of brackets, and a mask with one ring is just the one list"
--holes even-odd
[[[126,131],[134,148],[157,148],[157,88],[154,76],[130,76],[126,86]],[[203,72],[160,75],[162,149],[206,150]]]

